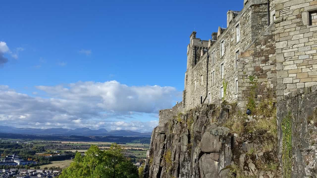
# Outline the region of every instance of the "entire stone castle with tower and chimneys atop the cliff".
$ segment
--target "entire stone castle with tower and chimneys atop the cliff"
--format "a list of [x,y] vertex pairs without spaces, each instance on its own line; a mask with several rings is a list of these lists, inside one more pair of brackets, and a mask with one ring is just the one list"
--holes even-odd
[[317,1],[244,0],[227,12],[227,28],[201,40],[196,31],[187,46],[183,101],[159,111],[162,125],[178,112],[226,100],[246,104],[244,91],[254,76],[256,99],[268,89],[278,99],[317,85]]

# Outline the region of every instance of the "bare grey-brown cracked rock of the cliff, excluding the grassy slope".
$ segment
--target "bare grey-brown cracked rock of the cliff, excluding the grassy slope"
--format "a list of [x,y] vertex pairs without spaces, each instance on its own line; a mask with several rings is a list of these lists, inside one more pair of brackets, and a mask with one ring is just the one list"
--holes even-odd
[[156,127],[144,178],[227,178],[234,162],[246,175],[270,177],[256,165],[261,156],[269,154],[246,155],[257,145],[252,136],[237,138],[223,126],[231,109],[230,105],[203,105]]

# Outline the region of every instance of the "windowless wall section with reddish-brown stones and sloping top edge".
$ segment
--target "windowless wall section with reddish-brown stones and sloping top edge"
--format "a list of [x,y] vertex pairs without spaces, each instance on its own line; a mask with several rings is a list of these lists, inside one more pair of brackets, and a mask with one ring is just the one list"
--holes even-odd
[[[240,53],[238,59],[238,104],[245,105],[248,96],[249,76],[256,76],[258,82],[257,98],[275,91],[276,58],[275,58],[275,24],[272,23],[258,39],[253,41]],[[273,90],[267,90],[267,89]]]

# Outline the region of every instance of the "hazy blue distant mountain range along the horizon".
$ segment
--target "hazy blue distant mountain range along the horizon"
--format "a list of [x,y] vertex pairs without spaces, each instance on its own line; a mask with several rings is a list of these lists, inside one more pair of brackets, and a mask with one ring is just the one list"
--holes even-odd
[[135,132],[131,130],[111,130],[106,129],[91,130],[89,128],[78,129],[63,129],[63,128],[51,128],[51,129],[33,129],[33,128],[17,128],[10,126],[0,126],[0,132],[2,133],[14,133],[14,134],[45,134],[45,135],[78,135],[78,136],[124,136],[124,137],[151,137],[151,132]]

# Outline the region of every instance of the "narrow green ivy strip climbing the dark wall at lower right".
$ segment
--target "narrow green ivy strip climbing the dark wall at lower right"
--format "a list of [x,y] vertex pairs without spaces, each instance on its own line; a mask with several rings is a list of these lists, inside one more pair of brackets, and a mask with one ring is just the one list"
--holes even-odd
[[284,178],[291,177],[292,170],[292,121],[291,112],[282,119],[282,162]]

